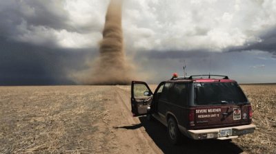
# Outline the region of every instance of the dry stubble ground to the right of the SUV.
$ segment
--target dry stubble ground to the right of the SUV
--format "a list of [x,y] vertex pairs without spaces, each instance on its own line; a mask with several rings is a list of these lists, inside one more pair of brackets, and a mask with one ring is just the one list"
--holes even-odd
[[276,85],[242,85],[253,107],[255,133],[233,140],[250,153],[276,153]]

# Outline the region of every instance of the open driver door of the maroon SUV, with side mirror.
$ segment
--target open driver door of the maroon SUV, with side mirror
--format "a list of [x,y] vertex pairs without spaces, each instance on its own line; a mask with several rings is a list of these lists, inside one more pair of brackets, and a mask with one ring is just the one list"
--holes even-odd
[[130,101],[133,116],[145,115],[148,113],[148,108],[152,102],[152,91],[150,87],[144,82],[132,81]]

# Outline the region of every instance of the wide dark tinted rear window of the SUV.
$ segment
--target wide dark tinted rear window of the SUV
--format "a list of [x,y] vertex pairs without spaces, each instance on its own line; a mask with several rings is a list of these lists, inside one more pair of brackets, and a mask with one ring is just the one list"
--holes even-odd
[[195,83],[195,104],[239,104],[248,102],[237,83]]

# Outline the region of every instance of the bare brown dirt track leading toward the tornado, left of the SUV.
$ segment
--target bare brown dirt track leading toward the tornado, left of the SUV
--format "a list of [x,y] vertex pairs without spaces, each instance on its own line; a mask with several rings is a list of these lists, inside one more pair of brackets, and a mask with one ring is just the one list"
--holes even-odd
[[99,153],[161,153],[150,146],[150,137],[144,136],[146,131],[139,119],[132,117],[128,97],[126,91],[114,86],[107,91],[104,116],[97,134],[102,134],[105,144],[99,144]]

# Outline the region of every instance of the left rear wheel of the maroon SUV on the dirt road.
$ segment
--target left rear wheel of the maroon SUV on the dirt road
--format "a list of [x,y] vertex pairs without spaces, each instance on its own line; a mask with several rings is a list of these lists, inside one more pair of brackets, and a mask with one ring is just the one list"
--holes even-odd
[[172,144],[176,145],[180,143],[181,133],[179,131],[175,118],[168,119],[168,137]]

